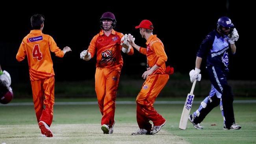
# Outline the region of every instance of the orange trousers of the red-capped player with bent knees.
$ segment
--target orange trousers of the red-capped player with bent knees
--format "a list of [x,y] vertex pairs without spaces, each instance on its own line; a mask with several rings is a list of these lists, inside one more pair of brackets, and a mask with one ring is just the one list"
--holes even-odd
[[151,131],[152,124],[150,124],[150,120],[153,122],[154,126],[160,126],[165,122],[163,116],[158,114],[154,109],[153,104],[168,79],[168,74],[154,74],[148,76],[143,83],[141,91],[136,98],[137,123],[140,129]]

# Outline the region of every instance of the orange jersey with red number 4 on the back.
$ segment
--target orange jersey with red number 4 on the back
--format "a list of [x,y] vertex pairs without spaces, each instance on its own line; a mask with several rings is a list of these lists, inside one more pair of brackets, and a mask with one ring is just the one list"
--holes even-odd
[[54,39],[50,35],[43,34],[41,30],[31,30],[22,40],[16,59],[22,61],[26,56],[28,57],[31,81],[54,76],[50,51],[57,57],[64,56]]

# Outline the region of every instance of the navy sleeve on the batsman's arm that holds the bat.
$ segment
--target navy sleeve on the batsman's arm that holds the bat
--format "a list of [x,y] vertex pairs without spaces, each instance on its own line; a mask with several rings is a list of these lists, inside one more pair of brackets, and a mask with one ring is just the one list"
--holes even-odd
[[211,50],[212,48],[212,44],[213,41],[215,39],[215,36],[212,35],[211,33],[209,33],[206,38],[202,41],[200,48],[197,52],[197,56],[198,57],[204,57],[205,55],[208,54],[208,52]]

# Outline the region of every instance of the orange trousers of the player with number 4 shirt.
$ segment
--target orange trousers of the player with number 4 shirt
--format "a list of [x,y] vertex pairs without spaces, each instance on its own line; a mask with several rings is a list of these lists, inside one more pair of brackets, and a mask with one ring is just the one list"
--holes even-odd
[[44,121],[50,127],[53,118],[54,76],[31,81],[31,85],[37,122]]

